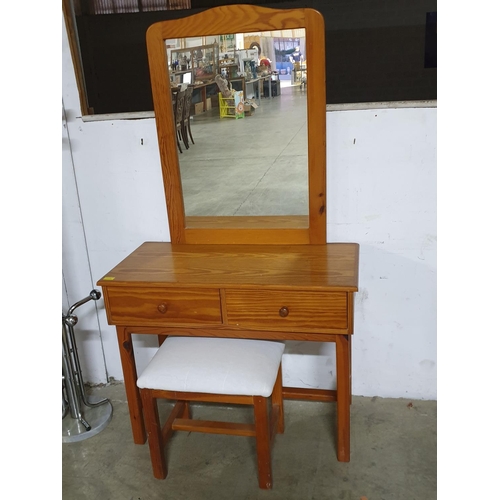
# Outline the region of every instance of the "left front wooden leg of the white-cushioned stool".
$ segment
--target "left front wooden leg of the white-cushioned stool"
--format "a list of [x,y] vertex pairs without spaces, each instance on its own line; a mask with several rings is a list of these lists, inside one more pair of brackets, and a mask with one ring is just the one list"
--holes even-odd
[[161,424],[156,398],[153,397],[150,389],[141,389],[141,399],[153,474],[156,479],[165,479],[167,477],[167,462],[163,450]]

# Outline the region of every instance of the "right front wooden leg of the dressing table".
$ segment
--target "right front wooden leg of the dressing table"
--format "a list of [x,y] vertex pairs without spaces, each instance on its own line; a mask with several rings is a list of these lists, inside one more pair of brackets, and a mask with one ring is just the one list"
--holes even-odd
[[336,338],[337,358],[337,458],[351,459],[351,336]]

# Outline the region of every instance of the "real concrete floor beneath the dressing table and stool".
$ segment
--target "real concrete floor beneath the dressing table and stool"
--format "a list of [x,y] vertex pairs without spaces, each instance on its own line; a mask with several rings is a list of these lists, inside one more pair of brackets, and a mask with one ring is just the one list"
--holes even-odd
[[[272,451],[273,489],[260,490],[253,438],[177,432],[169,475],[153,477],[146,445],[132,441],[124,387],[92,388],[113,406],[97,435],[62,445],[64,500],[431,500],[436,498],[435,401],[354,397],[351,461],[335,455],[335,403],[285,401]],[[163,411],[166,412],[166,403]],[[246,407],[193,407],[195,418],[251,421]]]

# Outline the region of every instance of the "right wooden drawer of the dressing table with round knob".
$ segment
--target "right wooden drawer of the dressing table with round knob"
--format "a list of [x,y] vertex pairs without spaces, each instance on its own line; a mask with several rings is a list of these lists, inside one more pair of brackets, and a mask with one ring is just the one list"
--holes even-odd
[[347,328],[347,293],[226,290],[229,325],[323,332]]

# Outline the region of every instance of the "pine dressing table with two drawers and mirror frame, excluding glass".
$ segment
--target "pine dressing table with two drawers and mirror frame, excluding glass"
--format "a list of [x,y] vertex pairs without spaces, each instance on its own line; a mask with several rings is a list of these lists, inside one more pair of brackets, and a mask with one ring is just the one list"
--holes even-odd
[[[305,29],[307,215],[185,215],[165,40],[226,33],[229,20],[235,33]],[[335,342],[337,389],[283,394],[337,402],[337,458],[348,462],[359,247],[326,243],[323,18],[311,9],[230,5],[156,23],[146,39],[171,243],[144,243],[97,282],[117,330],[134,442],[146,434],[133,333],[160,343],[169,335]]]

